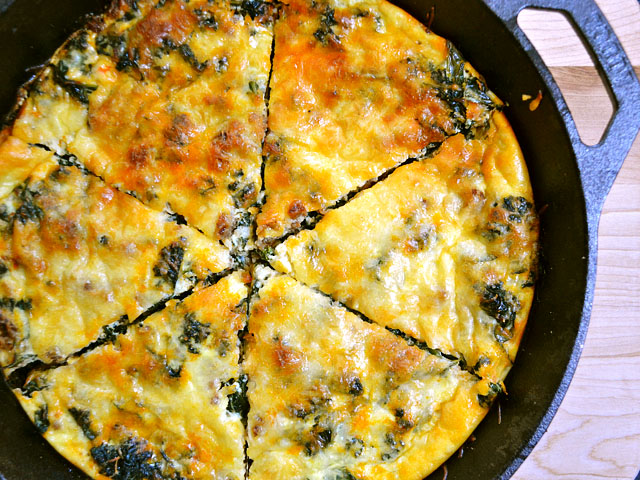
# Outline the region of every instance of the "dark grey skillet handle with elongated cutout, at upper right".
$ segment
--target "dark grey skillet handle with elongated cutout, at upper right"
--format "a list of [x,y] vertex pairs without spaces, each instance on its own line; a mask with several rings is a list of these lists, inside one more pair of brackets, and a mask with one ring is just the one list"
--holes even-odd
[[[622,45],[594,0],[485,0],[485,3],[540,67],[576,153],[588,216],[597,224],[604,199],[640,129],[640,83]],[[566,14],[589,50],[600,77],[609,87],[615,100],[614,113],[598,144],[589,146],[582,142],[558,85],[518,26],[517,16],[527,7]]]

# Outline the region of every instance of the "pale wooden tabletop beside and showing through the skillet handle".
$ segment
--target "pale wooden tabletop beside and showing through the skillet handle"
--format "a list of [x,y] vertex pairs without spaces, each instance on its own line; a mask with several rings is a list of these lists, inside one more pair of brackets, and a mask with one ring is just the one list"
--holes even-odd
[[[640,76],[640,3],[597,2]],[[533,10],[521,13],[519,24],[560,85],[583,140],[597,143],[612,107],[571,27],[558,13]],[[578,369],[514,480],[634,479],[639,471],[640,137],[600,220],[595,301]]]

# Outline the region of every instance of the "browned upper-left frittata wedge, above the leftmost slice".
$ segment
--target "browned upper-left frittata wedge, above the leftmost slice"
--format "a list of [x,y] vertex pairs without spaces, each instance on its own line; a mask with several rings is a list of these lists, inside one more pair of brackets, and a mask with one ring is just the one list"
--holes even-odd
[[57,53],[13,133],[243,247],[248,231],[231,237],[261,188],[270,20],[227,2],[138,3]]

